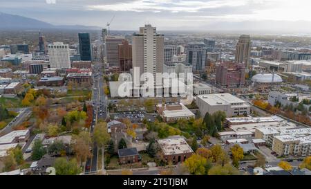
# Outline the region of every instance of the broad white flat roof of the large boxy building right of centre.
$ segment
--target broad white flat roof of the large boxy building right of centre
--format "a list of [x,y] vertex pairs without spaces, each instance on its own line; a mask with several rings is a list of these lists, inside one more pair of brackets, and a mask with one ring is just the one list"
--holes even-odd
[[[235,103],[245,103],[244,100],[237,98],[229,93],[216,93],[216,94],[207,94],[199,95],[197,98],[200,98],[207,102],[211,106],[216,105],[234,105]],[[246,104],[245,104],[246,105]]]

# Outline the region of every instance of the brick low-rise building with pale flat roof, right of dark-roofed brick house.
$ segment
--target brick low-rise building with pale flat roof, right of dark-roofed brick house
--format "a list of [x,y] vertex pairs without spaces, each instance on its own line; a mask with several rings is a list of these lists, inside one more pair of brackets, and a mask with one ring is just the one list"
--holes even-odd
[[167,163],[183,162],[194,153],[194,150],[191,149],[182,136],[169,136],[165,139],[159,139],[158,145],[162,150],[164,161]]

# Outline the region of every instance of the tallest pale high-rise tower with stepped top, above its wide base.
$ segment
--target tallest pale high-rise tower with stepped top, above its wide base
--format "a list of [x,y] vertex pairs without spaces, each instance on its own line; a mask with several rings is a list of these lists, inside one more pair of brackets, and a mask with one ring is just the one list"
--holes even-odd
[[133,68],[139,67],[140,74],[163,72],[164,35],[156,33],[156,27],[150,24],[140,27],[140,33],[132,39]]

